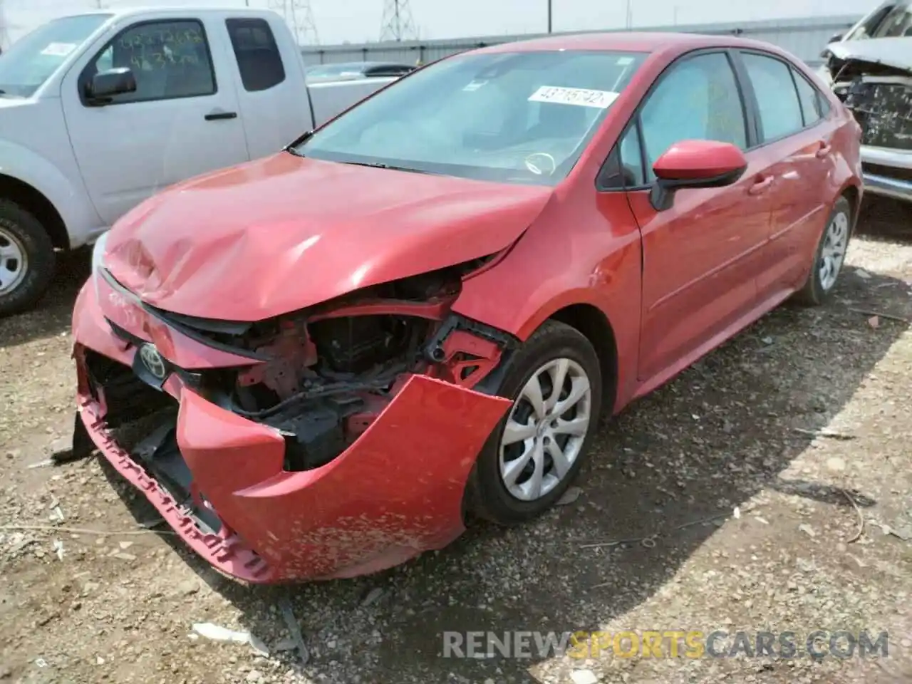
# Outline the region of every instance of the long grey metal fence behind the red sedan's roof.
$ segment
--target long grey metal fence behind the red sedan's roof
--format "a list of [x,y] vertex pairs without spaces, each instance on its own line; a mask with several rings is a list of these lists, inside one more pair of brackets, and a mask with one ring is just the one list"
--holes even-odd
[[[861,16],[814,16],[805,19],[772,19],[732,24],[700,24],[689,26],[637,26],[637,31],[683,32],[709,35],[735,35],[763,40],[788,50],[808,64],[820,64],[820,52],[830,36],[842,33],[853,26]],[[618,32],[626,29],[613,29]],[[582,31],[562,32],[555,36],[569,36]],[[384,61],[425,64],[457,52],[509,43],[514,40],[528,40],[547,34],[523,34],[520,36],[482,36],[452,38],[449,40],[389,41],[383,43],[351,43],[332,46],[305,47],[301,50],[307,65],[331,64],[336,62]]]

